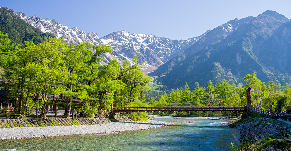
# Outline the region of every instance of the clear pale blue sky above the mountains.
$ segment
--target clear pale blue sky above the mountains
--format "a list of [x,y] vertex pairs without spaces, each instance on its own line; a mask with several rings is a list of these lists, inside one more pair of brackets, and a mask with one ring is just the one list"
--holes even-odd
[[290,0],[0,0],[0,7],[55,19],[69,28],[103,37],[116,31],[188,39],[234,18],[266,10],[291,19]]

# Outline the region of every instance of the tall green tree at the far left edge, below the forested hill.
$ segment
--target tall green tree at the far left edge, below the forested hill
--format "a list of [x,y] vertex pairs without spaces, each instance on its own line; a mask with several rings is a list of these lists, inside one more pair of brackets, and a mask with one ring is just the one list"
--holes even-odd
[[[33,60],[32,50],[35,48],[35,44],[32,42],[25,42],[22,46],[17,47],[8,45],[10,43],[7,34],[0,33],[0,41],[2,52],[0,71],[2,76],[8,80],[8,84],[5,87],[9,87],[10,97],[14,100],[15,111],[19,114],[22,112],[22,100],[25,93],[30,93],[33,87],[27,87],[29,82],[28,72],[24,69],[29,62]],[[4,68],[2,68],[2,67]],[[26,94],[25,108],[27,108],[28,94]]]

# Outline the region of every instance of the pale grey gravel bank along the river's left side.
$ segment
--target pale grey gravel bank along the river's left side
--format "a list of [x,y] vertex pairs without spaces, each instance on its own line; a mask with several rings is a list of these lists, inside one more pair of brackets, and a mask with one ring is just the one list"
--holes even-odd
[[115,133],[119,131],[144,130],[169,125],[173,125],[173,123],[156,120],[147,120],[145,122],[141,121],[110,122],[107,124],[100,125],[0,128],[0,140],[50,137],[62,135],[94,134],[94,133]]

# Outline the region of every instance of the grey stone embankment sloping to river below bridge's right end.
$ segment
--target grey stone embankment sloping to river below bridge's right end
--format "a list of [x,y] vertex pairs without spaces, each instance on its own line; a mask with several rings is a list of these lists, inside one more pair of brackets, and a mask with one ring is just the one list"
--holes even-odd
[[282,151],[291,145],[291,126],[265,114],[248,111],[243,114],[241,120],[231,123],[229,126],[239,130],[241,134],[239,141],[242,146],[253,144],[253,146],[245,146],[246,148]]

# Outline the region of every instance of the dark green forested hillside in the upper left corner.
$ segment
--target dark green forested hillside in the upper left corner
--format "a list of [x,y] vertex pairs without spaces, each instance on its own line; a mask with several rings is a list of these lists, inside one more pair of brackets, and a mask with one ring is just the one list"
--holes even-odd
[[43,33],[37,28],[27,24],[19,18],[14,11],[5,7],[0,8],[0,31],[8,34],[12,43],[23,43],[33,41],[34,43],[43,42],[45,37],[55,37],[49,33]]

